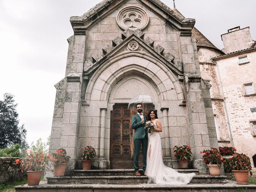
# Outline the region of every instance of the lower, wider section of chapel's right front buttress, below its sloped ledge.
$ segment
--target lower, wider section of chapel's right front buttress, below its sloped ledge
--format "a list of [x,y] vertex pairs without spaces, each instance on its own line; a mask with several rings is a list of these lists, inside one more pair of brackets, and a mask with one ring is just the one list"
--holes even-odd
[[201,77],[198,74],[186,74],[184,81],[193,167],[200,173],[207,173],[208,170],[200,154],[200,151],[211,147],[202,98]]

